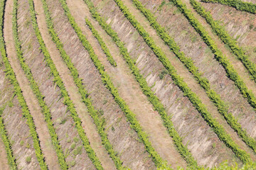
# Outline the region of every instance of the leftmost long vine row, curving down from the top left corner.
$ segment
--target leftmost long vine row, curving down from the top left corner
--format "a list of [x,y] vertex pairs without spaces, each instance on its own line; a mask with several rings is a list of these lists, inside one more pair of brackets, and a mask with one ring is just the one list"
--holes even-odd
[[[14,70],[11,68],[11,64],[10,64],[8,58],[7,58],[6,46],[5,46],[5,42],[4,42],[4,33],[3,33],[5,2],[6,2],[6,0],[1,0],[1,7],[0,7],[0,10],[1,10],[0,11],[0,13],[1,13],[1,16],[0,16],[0,26],[1,26],[1,29],[0,29],[0,52],[1,52],[1,56],[3,58],[4,67],[6,68],[5,69],[6,78],[9,79],[11,84],[14,86],[14,91],[15,91],[15,94],[18,98],[18,102],[20,103],[22,114],[27,120],[27,124],[28,124],[28,127],[30,129],[30,134],[31,134],[31,137],[33,139],[33,147],[35,149],[36,157],[38,159],[39,165],[40,165],[41,169],[47,170],[48,167],[47,167],[46,162],[45,162],[44,157],[43,157],[43,153],[42,153],[42,149],[41,149],[41,146],[40,146],[38,134],[36,132],[36,126],[33,123],[33,117],[31,115],[31,113],[28,111],[28,106],[26,104],[25,98],[23,97],[21,87],[18,84],[18,81],[16,79],[16,75],[14,73]],[[13,160],[9,160],[9,162],[10,161],[14,162]],[[11,165],[15,166],[14,169],[16,169],[16,165],[14,165],[14,163],[12,163]]]

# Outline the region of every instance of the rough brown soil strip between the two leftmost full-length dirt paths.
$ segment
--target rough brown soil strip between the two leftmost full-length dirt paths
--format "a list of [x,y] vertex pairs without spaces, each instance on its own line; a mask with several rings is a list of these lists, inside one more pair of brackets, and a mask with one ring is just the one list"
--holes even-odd
[[[82,141],[76,140],[80,139],[80,137],[74,126],[73,118],[70,117],[70,112],[66,111],[67,107],[63,104],[63,98],[60,98],[60,89],[53,84],[53,76],[49,77],[50,69],[46,67],[43,53],[39,50],[39,44],[31,26],[28,1],[21,0],[18,3],[18,33],[22,42],[23,56],[28,67],[31,68],[33,78],[38,83],[41,93],[46,96],[44,100],[52,113],[53,125],[58,135],[60,146],[66,155],[65,160],[68,164],[75,162],[75,165],[70,169],[95,169],[84,147],[82,147]],[[74,145],[74,148],[71,147]],[[80,147],[82,147],[80,154],[74,155],[73,153]]]

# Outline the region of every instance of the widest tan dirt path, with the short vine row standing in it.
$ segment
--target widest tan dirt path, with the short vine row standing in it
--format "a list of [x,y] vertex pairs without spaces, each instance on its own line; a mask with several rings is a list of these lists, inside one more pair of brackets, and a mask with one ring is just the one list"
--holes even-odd
[[130,73],[129,67],[126,62],[122,60],[122,56],[119,55],[118,48],[114,45],[114,42],[105,34],[107,40],[105,40],[107,47],[110,48],[114,60],[117,62],[117,67],[113,68],[107,61],[107,57],[101,50],[101,47],[97,40],[93,37],[91,31],[85,26],[85,16],[90,18],[95,28],[100,32],[104,32],[99,25],[92,21],[90,11],[86,4],[82,0],[71,1],[68,0],[67,4],[70,8],[70,12],[78,23],[78,26],[82,29],[83,33],[87,36],[87,39],[91,43],[95,54],[100,58],[102,64],[105,65],[105,70],[112,79],[112,82],[117,87],[120,96],[127,102],[129,108],[137,115],[139,123],[142,125],[144,131],[149,134],[149,140],[152,142],[156,152],[160,154],[163,159],[166,159],[171,166],[186,166],[186,162],[181,155],[177,152],[174,143],[169,137],[166,128],[164,127],[161,117],[153,110],[151,103],[142,93],[139,84],[134,79],[134,76]]

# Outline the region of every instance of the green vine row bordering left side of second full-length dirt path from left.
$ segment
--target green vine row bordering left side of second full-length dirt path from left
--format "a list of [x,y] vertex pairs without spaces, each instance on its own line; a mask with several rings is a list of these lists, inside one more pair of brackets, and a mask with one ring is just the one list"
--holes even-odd
[[53,63],[53,60],[51,59],[50,54],[43,41],[42,35],[38,28],[38,23],[36,21],[36,11],[33,6],[33,0],[29,0],[28,2],[29,2],[30,13],[31,13],[32,26],[33,26],[33,29],[35,30],[36,37],[38,39],[39,45],[41,47],[41,50],[43,52],[47,65],[48,67],[50,67],[50,74],[52,74],[54,77],[53,81],[60,88],[60,93],[63,96],[63,103],[66,106],[68,106],[67,110],[70,111],[70,115],[75,122],[75,128],[77,128],[78,130],[78,135],[82,140],[82,145],[85,147],[85,151],[87,152],[88,157],[92,161],[92,164],[95,165],[96,169],[103,169],[100,160],[97,158],[95,154],[95,151],[90,146],[90,142],[87,136],[85,135],[85,131],[82,129],[82,122],[78,117],[78,113],[75,111],[74,103],[71,101],[70,97],[68,96],[68,91],[65,89],[63,81],[60,78],[60,74],[58,73],[58,70],[56,69],[55,64]]

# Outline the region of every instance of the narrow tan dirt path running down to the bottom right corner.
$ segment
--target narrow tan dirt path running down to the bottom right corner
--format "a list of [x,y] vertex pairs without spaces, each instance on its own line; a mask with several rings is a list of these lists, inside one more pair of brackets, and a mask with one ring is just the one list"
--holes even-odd
[[174,65],[174,67],[177,70],[178,75],[183,77],[183,80],[188,84],[188,86],[191,88],[191,90],[198,95],[199,98],[201,98],[201,101],[206,105],[208,108],[208,111],[213,115],[213,118],[218,120],[220,125],[223,125],[225,128],[225,131],[228,132],[228,134],[232,137],[232,139],[235,141],[235,143],[241,148],[244,149],[247,153],[250,154],[251,158],[253,160],[256,159],[255,153],[252,152],[252,149],[247,147],[245,143],[238,137],[237,133],[234,132],[232,128],[226,123],[226,121],[222,118],[220,113],[218,113],[217,108],[213,105],[213,102],[210,101],[208,96],[206,95],[206,92],[201,88],[201,86],[196,82],[196,80],[193,78],[192,74],[188,72],[186,67],[183,66],[183,64],[177,60],[177,57],[174,56],[174,54],[169,50],[169,47],[164,44],[164,41],[161,40],[159,35],[157,35],[154,28],[151,28],[149,22],[146,20],[146,18],[143,16],[143,14],[132,4],[132,1],[130,0],[122,0],[124,2],[124,5],[129,8],[129,11],[135,16],[137,21],[144,27],[147,33],[153,38],[153,40],[156,42],[156,44],[161,47],[163,52],[166,54],[166,57],[169,58],[171,64]]

